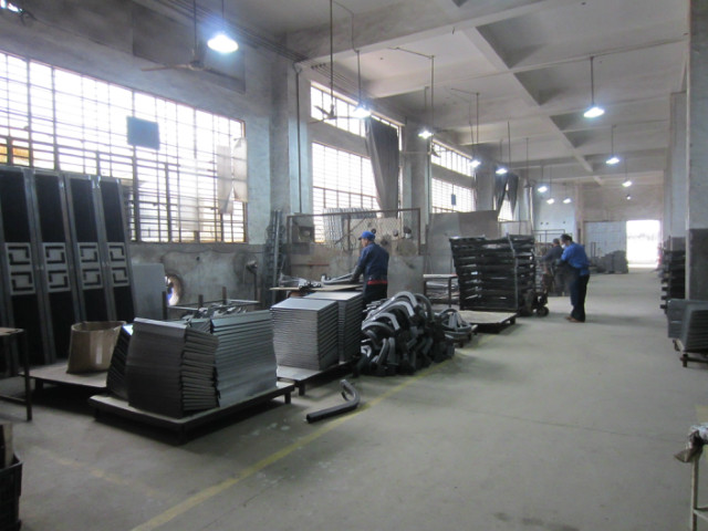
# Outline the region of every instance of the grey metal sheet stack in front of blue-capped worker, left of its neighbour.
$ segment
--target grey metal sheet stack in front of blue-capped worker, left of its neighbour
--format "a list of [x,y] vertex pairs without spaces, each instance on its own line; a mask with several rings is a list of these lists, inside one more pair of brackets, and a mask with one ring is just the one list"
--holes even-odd
[[270,311],[278,365],[322,371],[337,363],[335,301],[291,296]]

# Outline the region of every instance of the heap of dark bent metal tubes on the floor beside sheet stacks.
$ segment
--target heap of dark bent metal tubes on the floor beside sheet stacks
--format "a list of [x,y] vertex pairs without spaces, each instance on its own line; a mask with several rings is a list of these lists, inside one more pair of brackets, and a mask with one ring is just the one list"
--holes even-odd
[[472,326],[455,310],[437,314],[419,293],[402,291],[369,304],[362,323],[362,357],[356,372],[376,376],[413,374],[455,354],[455,343],[470,339]]

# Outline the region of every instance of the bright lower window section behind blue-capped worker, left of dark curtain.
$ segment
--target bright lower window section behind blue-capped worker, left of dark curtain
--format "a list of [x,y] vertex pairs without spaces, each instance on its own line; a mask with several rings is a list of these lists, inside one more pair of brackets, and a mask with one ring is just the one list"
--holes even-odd
[[[312,144],[312,211],[330,209],[377,210],[372,163],[366,157]],[[315,239],[322,241],[322,227],[315,219]]]

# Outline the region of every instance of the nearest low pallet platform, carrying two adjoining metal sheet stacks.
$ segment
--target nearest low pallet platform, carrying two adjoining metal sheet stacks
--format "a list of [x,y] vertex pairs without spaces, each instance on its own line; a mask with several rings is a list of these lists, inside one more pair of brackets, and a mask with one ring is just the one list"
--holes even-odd
[[88,398],[88,404],[94,408],[96,418],[98,418],[101,413],[108,413],[118,417],[127,418],[129,420],[135,420],[137,423],[148,424],[158,428],[168,429],[171,431],[176,431],[178,434],[179,441],[183,442],[186,434],[195,428],[198,428],[199,426],[205,426],[207,424],[214,423],[221,418],[233,415],[237,412],[248,409],[249,407],[264,404],[279,396],[283,396],[284,403],[290,404],[291,394],[294,388],[294,384],[277,382],[275,388],[259,393],[258,395],[253,395],[243,402],[239,402],[238,404],[232,404],[230,406],[223,407],[215,407],[212,409],[195,413],[194,415],[188,415],[181,418],[173,418],[166,415],[137,409],[136,407],[131,406],[126,400],[123,400],[115,396],[92,396],[91,398]]

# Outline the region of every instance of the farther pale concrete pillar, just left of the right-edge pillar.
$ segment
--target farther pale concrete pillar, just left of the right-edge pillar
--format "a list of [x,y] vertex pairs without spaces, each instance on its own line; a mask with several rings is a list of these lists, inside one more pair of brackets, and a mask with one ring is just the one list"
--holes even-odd
[[686,93],[671,94],[670,140],[664,180],[664,240],[686,236]]

